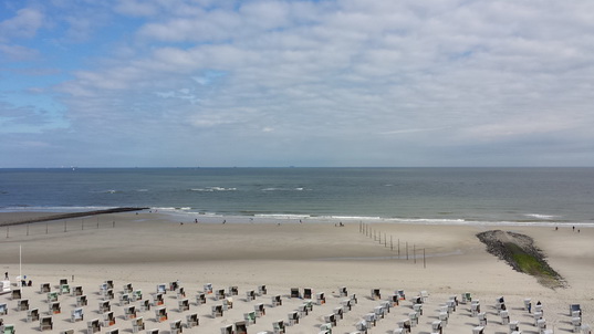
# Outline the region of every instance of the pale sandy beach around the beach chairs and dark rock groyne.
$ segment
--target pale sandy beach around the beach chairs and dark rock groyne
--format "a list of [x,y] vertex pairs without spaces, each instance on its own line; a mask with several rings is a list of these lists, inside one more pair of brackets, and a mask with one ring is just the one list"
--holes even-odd
[[[0,222],[40,215],[0,213]],[[102,332],[119,328],[121,333],[132,333],[132,321],[124,319],[125,305],[118,301],[124,284],[132,283],[134,290],[142,290],[143,299],[152,299],[157,284],[169,285],[176,281],[186,291],[189,310],[179,311],[179,299],[169,291],[164,299],[167,321],[157,322],[154,309],[137,313],[143,316],[146,330],[169,333],[171,322],[181,320],[185,324],[186,315],[197,313],[199,326],[184,327],[185,333],[221,333],[222,326],[243,321],[244,313],[263,303],[265,315],[248,326],[248,333],[272,333],[273,322],[288,322],[288,314],[304,302],[289,298],[291,288],[300,291],[311,288],[315,293],[325,293],[325,303],[314,305],[299,324],[288,326],[286,333],[319,333],[324,316],[346,299],[338,295],[340,286],[345,286],[348,295],[355,294],[357,303],[337,321],[332,333],[355,332],[356,323],[396,290],[404,290],[407,299],[390,309],[371,333],[392,333],[397,328],[398,322],[413,312],[413,298],[420,291],[427,291],[429,296],[414,333],[431,333],[440,307],[452,295],[460,300],[465,292],[480,300],[481,312],[488,319],[484,333],[509,333],[509,326],[502,324],[496,310],[500,296],[504,296],[510,320],[519,322],[522,333],[539,333],[533,315],[523,310],[524,299],[531,299],[533,304],[542,303],[546,328],[554,333],[573,330],[570,304],[581,304],[583,323],[594,325],[592,228],[581,227],[577,232],[571,226],[555,231],[551,227],[525,226],[367,225],[376,237],[382,236],[379,241],[373,234],[362,233],[358,222],[345,222],[344,227],[315,221],[181,222],[143,211],[1,227],[0,261],[14,282],[21,248],[21,272],[32,281],[32,286],[21,288],[22,299],[28,299],[30,307],[38,307],[42,316],[49,315],[49,303],[46,293],[40,292],[41,283],[50,283],[52,291],[61,279],[67,279],[71,288],[82,286],[88,299],[84,320],[71,322],[76,298],[60,295],[61,313],[52,315],[55,332],[72,328],[74,333],[86,333],[87,321],[103,321],[98,312],[98,303],[103,301],[100,285],[106,280],[114,281],[115,299],[111,304],[116,323]],[[476,234],[490,229],[532,237],[567,286],[544,288],[534,278],[513,271],[489,254]],[[221,303],[212,294],[207,296],[206,304],[196,303],[197,293],[207,283],[225,291],[238,286],[232,309],[223,316],[211,316],[211,306]],[[247,300],[246,293],[259,285],[267,286],[267,294]],[[371,298],[372,289],[379,289],[381,300]],[[282,305],[272,307],[274,295],[281,295]],[[27,322],[27,311],[17,311],[18,302],[10,294],[0,296],[0,304],[3,303],[9,309],[8,314],[0,316],[4,324],[14,324],[19,333],[39,332],[39,322]],[[444,333],[472,333],[478,325],[479,319],[471,316],[470,304],[460,304],[450,313]]]

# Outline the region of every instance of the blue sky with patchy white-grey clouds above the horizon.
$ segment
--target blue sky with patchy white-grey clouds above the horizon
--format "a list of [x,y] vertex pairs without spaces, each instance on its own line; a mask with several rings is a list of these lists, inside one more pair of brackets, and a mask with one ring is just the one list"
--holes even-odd
[[0,168],[594,166],[594,1],[0,0]]

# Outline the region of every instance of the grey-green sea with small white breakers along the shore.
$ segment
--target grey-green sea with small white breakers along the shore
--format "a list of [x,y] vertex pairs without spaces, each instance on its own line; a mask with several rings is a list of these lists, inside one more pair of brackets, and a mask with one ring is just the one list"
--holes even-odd
[[594,227],[594,168],[0,169],[0,211]]

